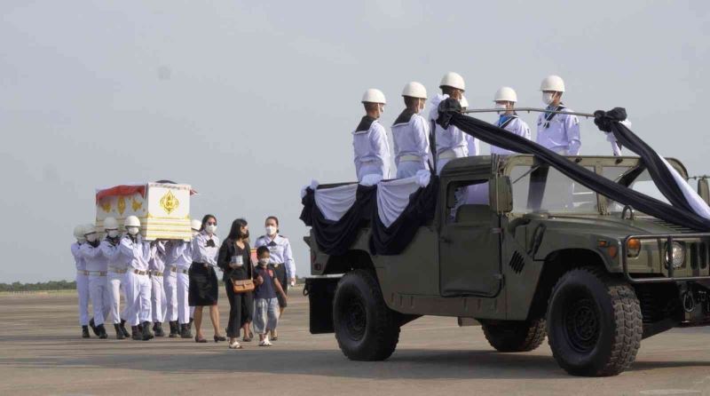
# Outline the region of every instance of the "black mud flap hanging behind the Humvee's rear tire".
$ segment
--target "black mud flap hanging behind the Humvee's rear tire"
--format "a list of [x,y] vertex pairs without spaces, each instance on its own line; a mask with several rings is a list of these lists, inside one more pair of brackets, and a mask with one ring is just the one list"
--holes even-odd
[[304,296],[308,297],[311,334],[334,333],[333,297],[340,277],[306,278]]

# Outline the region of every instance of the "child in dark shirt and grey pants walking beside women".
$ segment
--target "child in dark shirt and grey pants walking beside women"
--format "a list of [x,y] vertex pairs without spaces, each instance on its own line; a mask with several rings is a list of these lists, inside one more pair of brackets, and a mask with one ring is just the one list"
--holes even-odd
[[254,298],[256,310],[254,312],[254,331],[259,335],[259,346],[272,346],[266,329],[275,330],[279,323],[279,300],[276,293],[286,300],[281,283],[273,276],[269,265],[269,248],[260,246],[256,249],[258,265],[254,271]]

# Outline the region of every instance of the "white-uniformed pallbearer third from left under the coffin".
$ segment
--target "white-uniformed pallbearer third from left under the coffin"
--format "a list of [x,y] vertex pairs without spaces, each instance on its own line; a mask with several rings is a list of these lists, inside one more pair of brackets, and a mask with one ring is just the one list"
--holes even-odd
[[121,312],[121,294],[124,296],[126,294],[124,279],[126,277],[127,263],[118,251],[118,244],[121,242],[121,236],[118,234],[118,221],[115,218],[105,218],[104,230],[106,231],[106,238],[101,241],[99,249],[101,249],[101,254],[107,260],[108,302],[111,307],[116,339],[121,340],[130,337],[125,327],[126,315]]

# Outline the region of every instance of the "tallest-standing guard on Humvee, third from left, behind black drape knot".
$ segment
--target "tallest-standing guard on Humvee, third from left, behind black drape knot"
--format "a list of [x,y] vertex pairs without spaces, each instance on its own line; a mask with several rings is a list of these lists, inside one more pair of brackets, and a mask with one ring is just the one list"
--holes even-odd
[[[429,115],[430,123],[435,125],[434,135],[437,141],[437,174],[441,173],[441,169],[444,168],[446,162],[454,158],[465,157],[469,154],[466,136],[461,130],[454,125],[449,125],[445,130],[441,128],[441,125],[436,123],[439,103],[448,98],[461,100],[463,97],[463,91],[466,90],[463,77],[458,73],[448,72],[441,78],[439,88],[441,89],[441,94],[431,100],[432,108]],[[470,154],[477,155],[478,153]]]

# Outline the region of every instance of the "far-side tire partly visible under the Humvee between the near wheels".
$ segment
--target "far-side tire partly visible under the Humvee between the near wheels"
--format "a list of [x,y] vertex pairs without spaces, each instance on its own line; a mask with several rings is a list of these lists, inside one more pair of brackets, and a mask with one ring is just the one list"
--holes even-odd
[[545,320],[500,321],[482,323],[483,334],[488,344],[498,352],[530,352],[547,337]]

